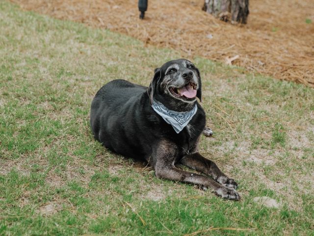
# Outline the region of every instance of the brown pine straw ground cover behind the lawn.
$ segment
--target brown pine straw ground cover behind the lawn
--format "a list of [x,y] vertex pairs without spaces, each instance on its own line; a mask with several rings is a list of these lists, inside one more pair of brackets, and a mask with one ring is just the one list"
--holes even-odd
[[[201,10],[204,0],[11,0],[26,10],[122,32],[160,47],[314,87],[313,0],[250,0],[245,26]],[[308,19],[308,20],[306,20]],[[307,22],[306,22],[307,21]],[[311,22],[312,21],[312,22]]]

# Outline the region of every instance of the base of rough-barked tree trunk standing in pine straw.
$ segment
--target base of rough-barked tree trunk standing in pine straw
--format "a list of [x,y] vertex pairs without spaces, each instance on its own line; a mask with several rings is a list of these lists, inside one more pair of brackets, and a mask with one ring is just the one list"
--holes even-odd
[[246,24],[249,0],[205,0],[202,9],[222,21]]

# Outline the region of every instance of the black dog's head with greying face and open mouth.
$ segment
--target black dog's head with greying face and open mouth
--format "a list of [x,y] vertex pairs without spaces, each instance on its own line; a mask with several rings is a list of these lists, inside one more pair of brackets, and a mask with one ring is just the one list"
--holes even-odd
[[171,110],[177,110],[176,107],[184,110],[194,104],[197,97],[202,100],[200,72],[189,60],[170,60],[155,69],[147,92],[151,104],[154,98]]

